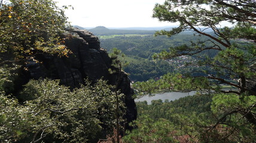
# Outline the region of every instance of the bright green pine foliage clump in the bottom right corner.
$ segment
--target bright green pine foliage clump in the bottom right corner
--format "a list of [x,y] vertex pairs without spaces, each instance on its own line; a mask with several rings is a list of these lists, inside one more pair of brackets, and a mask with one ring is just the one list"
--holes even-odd
[[[217,94],[214,95],[212,100],[212,111],[214,111],[216,116],[221,117],[218,120],[219,125],[217,125],[219,128],[226,129],[227,133],[231,134],[231,140],[239,141],[245,138],[246,142],[253,142],[255,140],[255,136],[253,136],[255,134],[255,125],[248,120],[243,120],[244,112],[248,114],[255,113],[255,96],[246,96],[242,99],[235,94]],[[218,134],[225,136],[225,133],[221,133],[220,130]]]

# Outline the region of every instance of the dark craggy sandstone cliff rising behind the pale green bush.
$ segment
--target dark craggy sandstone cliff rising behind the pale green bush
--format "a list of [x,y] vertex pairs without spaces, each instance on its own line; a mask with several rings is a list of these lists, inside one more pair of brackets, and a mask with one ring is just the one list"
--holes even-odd
[[[100,48],[99,39],[87,30],[72,29],[65,33],[67,38],[65,43],[72,54],[69,57],[57,57],[47,54],[41,54],[36,57],[40,63],[29,61],[26,65],[29,79],[38,79],[39,77],[48,77],[51,79],[60,79],[60,83],[75,88],[84,79],[89,78],[93,82],[103,77],[112,85],[115,85],[117,74],[110,74],[112,68],[111,59],[108,57],[105,49]],[[121,82],[118,87],[126,95],[124,103],[126,104],[127,122],[136,119],[137,111],[135,101],[132,98],[133,89],[130,88],[130,80],[126,73],[121,73]],[[129,129],[129,127],[127,127]]]

